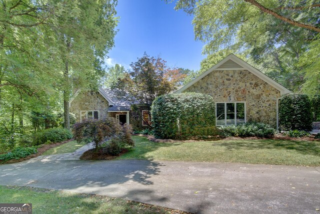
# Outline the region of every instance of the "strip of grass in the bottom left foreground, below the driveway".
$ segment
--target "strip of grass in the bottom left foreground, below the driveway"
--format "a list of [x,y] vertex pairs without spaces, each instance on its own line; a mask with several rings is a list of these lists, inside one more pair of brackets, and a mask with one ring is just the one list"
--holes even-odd
[[0,201],[32,203],[32,213],[183,213],[121,198],[20,186],[0,186]]

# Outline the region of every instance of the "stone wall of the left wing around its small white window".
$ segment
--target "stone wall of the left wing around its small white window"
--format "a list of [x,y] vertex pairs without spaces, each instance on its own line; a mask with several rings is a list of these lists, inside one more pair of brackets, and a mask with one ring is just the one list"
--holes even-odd
[[99,118],[106,118],[109,104],[99,92],[80,92],[70,104],[70,112],[80,121],[80,111],[99,111]]

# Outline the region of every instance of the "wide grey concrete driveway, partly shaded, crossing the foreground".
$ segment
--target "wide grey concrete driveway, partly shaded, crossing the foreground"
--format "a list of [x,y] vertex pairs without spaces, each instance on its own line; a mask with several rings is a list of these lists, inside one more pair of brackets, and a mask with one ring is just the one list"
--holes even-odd
[[319,167],[62,156],[0,165],[0,185],[95,193],[197,213],[320,213]]

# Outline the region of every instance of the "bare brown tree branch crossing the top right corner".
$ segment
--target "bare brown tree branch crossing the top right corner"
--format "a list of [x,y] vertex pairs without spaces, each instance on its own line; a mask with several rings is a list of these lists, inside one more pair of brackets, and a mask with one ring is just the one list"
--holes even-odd
[[279,15],[278,13],[276,13],[276,12],[274,12],[274,11],[268,9],[268,8],[265,8],[263,5],[257,3],[255,0],[244,0],[244,2],[250,3],[251,5],[254,5],[255,7],[259,8],[264,13],[270,14],[273,17],[275,17],[275,18],[277,18],[279,20],[282,20],[283,22],[289,23],[289,24],[291,24],[293,26],[297,26],[297,27],[300,27],[300,28],[305,28],[305,29],[309,29],[309,30],[312,30],[312,31],[320,32],[320,28],[317,28],[317,27],[315,27],[313,25],[300,23],[300,22],[291,20],[289,18],[283,17],[283,16]]

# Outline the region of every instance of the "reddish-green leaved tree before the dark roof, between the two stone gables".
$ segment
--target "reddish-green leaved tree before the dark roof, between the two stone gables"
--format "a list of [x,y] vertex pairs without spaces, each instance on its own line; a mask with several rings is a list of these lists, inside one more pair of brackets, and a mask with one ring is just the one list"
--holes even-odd
[[168,68],[165,63],[159,57],[150,57],[144,53],[136,62],[130,64],[131,70],[125,73],[115,88],[120,93],[128,93],[132,102],[136,103],[137,100],[150,110],[152,101],[156,97],[175,90],[179,81],[185,76],[179,73],[178,69]]

